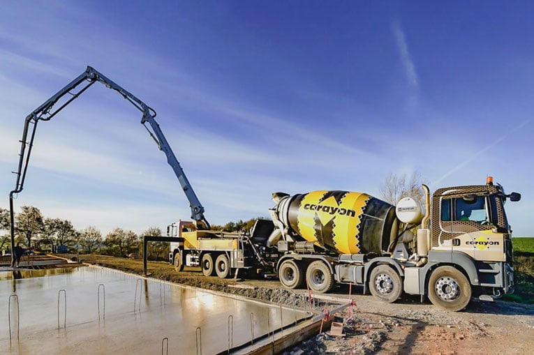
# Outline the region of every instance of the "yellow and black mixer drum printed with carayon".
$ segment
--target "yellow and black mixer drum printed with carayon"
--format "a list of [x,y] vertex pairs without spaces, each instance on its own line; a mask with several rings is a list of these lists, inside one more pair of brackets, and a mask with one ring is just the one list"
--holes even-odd
[[361,192],[313,191],[273,194],[276,216],[321,248],[340,254],[387,250],[397,231],[395,207]]

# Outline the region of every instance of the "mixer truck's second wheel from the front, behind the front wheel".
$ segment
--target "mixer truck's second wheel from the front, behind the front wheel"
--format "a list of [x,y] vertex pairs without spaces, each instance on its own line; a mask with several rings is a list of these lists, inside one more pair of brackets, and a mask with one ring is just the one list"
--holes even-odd
[[390,266],[378,265],[371,271],[369,289],[376,299],[393,303],[399,299],[403,291],[401,276]]

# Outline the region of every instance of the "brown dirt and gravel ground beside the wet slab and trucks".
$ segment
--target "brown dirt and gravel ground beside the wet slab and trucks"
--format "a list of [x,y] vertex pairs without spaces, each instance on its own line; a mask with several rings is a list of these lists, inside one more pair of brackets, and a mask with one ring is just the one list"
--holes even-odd
[[[80,256],[82,262],[101,264],[131,273],[142,273],[142,260],[97,255]],[[149,276],[185,285],[241,294],[263,301],[302,306],[306,290],[291,292],[278,280],[221,280],[205,277],[200,269],[177,273],[168,264],[149,262]],[[347,299],[349,288],[329,294]],[[419,296],[396,303],[382,303],[352,289],[352,317],[345,309],[334,314],[343,322],[343,337],[321,333],[285,354],[532,354],[534,305],[496,301],[471,301],[462,312],[440,310]],[[333,302],[329,302],[332,306]]]

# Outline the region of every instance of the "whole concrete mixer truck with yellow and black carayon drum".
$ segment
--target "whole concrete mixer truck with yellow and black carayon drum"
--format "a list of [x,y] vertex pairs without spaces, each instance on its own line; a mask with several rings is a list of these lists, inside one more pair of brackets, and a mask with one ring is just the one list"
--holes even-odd
[[364,286],[394,302],[403,292],[457,311],[472,296],[514,291],[511,229],[502,186],[440,188],[426,208],[410,197],[392,206],[359,192],[274,193],[276,271],[284,287],[329,292],[336,282]]

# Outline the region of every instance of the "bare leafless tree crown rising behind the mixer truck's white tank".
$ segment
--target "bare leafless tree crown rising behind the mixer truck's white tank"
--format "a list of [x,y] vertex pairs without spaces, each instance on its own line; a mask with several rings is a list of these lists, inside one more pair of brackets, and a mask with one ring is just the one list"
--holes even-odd
[[413,172],[408,178],[406,174],[397,175],[391,173],[380,186],[380,195],[385,202],[395,205],[403,197],[412,197],[421,204],[424,204],[424,190],[421,174]]

